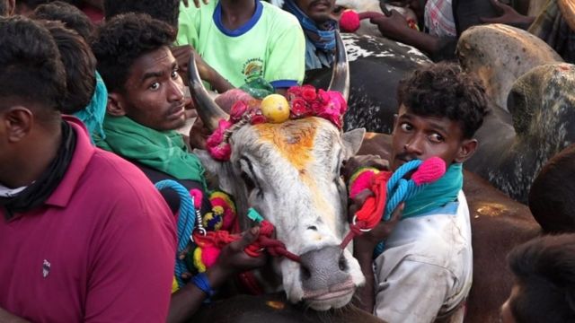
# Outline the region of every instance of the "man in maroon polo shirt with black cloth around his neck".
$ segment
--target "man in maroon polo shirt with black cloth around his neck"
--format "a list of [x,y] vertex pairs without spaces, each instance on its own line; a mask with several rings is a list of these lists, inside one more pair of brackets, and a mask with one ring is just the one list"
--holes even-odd
[[49,31],[0,18],[0,322],[164,322],[173,217],[128,162],[57,112]]

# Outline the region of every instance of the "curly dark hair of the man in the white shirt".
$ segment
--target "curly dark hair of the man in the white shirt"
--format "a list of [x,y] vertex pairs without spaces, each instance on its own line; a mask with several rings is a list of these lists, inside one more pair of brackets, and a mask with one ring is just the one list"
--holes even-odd
[[459,65],[423,66],[403,79],[397,88],[399,105],[420,116],[459,122],[464,138],[473,137],[487,115],[487,96],[480,81]]

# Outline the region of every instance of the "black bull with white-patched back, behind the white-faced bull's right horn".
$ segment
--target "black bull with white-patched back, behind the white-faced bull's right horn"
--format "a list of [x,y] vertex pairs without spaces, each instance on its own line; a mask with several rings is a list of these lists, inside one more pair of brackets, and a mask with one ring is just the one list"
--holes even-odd
[[[396,41],[343,34],[349,57],[349,109],[344,118],[345,130],[365,127],[370,132],[390,133],[397,111],[397,84],[418,66],[430,63],[415,48]],[[305,83],[327,88],[331,69],[308,73]]]

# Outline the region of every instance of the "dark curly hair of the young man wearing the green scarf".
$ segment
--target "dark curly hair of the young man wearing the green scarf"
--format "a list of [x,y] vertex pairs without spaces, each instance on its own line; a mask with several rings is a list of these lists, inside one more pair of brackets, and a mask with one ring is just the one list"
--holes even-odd
[[98,28],[92,49],[108,92],[124,92],[134,61],[170,46],[175,36],[169,24],[142,13],[120,14]]

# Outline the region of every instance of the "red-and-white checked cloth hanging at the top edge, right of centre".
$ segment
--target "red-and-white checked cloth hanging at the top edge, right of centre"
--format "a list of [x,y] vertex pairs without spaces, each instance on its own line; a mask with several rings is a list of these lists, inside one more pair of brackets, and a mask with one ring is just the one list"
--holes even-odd
[[424,22],[429,35],[456,37],[456,21],[453,16],[452,0],[429,0],[425,4]]

